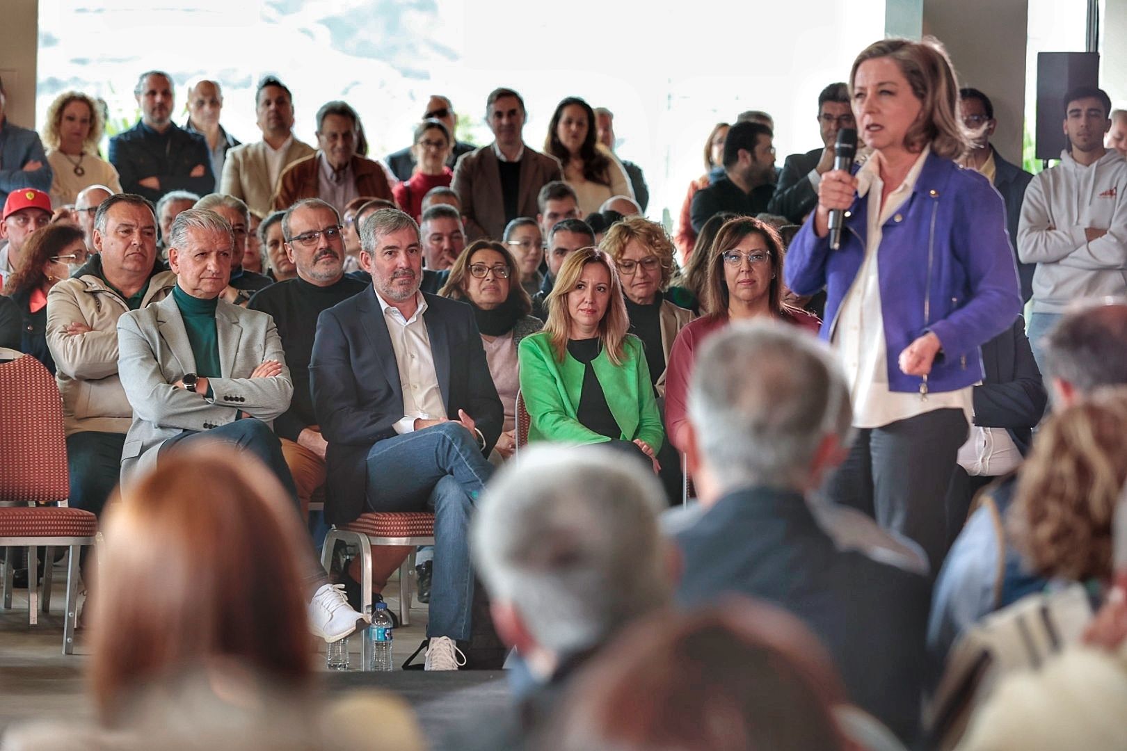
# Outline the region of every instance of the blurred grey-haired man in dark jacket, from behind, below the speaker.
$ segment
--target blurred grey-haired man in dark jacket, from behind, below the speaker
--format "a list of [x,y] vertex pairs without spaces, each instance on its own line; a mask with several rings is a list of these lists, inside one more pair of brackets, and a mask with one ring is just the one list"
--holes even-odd
[[837,365],[793,327],[734,324],[696,363],[691,401],[686,455],[704,511],[675,536],[678,601],[735,592],[791,611],[828,647],[851,700],[911,742],[930,593],[922,554],[806,498],[848,455]]

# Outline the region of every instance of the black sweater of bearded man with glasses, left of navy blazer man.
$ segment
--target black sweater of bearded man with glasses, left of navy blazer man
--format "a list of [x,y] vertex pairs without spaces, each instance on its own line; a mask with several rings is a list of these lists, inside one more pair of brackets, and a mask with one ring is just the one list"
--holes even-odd
[[294,277],[255,293],[247,303],[249,310],[274,316],[293,381],[290,409],[274,421],[274,432],[282,438],[295,441],[302,430],[317,424],[313,396],[309,391],[309,359],[313,351],[313,334],[317,333],[317,316],[366,286],[370,285],[347,276],[328,287],[318,287]]

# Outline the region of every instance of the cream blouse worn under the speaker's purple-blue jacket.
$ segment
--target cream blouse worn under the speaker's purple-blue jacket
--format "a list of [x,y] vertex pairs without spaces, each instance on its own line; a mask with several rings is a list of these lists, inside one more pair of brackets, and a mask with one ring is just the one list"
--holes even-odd
[[[880,197],[880,157],[873,155],[857,173],[858,196],[869,199],[868,242],[864,260],[857,272],[853,286],[842,302],[837,324],[833,331],[833,348],[841,358],[845,381],[853,401],[853,427],[880,428],[898,420],[914,418],[933,410],[955,408],[962,410],[970,422],[970,386],[957,391],[929,392],[926,397],[915,392],[890,391],[888,387],[887,343],[885,320],[880,307],[880,279],[877,271],[877,251],[880,248],[881,227],[912,195],[923,163],[931,152],[926,146],[908,171],[904,182],[893,193],[884,207]],[[922,303],[921,303],[922,304]],[[899,352],[897,352],[899,355]]]

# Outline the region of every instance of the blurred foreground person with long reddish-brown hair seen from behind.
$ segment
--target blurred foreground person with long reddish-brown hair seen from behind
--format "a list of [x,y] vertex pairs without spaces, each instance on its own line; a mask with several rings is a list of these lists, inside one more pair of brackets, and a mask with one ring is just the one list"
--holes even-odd
[[423,748],[398,699],[319,700],[311,551],[257,459],[219,445],[170,452],[123,490],[105,535],[90,601],[95,725],[28,727],[5,749]]

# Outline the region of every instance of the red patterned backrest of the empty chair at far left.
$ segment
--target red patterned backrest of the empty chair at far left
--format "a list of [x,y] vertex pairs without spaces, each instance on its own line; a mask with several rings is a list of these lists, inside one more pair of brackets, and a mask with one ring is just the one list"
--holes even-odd
[[30,355],[0,364],[0,501],[51,503],[69,494],[54,376]]

